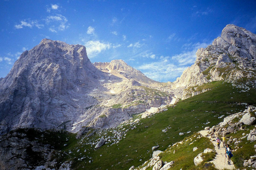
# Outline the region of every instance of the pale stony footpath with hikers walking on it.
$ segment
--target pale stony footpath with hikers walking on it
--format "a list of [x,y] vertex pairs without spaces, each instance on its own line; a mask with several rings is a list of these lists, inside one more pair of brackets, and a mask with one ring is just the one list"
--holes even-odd
[[[228,165],[228,160],[226,158],[225,161],[225,148],[222,147],[222,143],[220,144],[220,149],[218,149],[217,147],[217,143],[215,142],[216,138],[211,138],[211,136],[206,136],[208,134],[208,130],[201,130],[199,131],[199,133],[201,133],[202,136],[208,137],[211,142],[213,143],[213,145],[215,146],[215,151],[217,152],[215,158],[211,161],[214,165],[215,168],[217,169],[235,169],[235,166],[231,160],[231,165]],[[225,163],[224,163],[225,161]]]

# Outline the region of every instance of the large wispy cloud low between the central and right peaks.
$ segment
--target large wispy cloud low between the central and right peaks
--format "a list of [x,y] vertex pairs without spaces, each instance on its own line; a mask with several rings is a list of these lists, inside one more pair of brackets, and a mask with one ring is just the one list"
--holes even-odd
[[144,51],[136,55],[136,58],[146,57],[157,59],[158,61],[145,63],[136,68],[153,80],[162,82],[174,81],[188,66],[194,64],[197,49],[207,45],[207,43],[199,42],[184,44],[183,46],[187,51],[173,56],[157,56],[153,52]]

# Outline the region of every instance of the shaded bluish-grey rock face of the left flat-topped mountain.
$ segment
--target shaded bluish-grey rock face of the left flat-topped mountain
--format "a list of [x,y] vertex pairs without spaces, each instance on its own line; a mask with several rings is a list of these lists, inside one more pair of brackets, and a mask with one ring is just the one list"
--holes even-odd
[[0,81],[0,131],[72,123],[83,112],[81,106],[89,107],[95,100],[81,94],[103,76],[84,46],[43,39],[23,52]]

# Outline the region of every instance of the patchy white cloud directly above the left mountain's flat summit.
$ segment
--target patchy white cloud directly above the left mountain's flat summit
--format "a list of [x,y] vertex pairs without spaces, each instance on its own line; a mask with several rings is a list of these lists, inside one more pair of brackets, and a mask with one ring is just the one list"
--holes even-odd
[[69,26],[66,25],[67,18],[63,15],[57,14],[56,16],[48,16],[46,24],[50,25],[49,31],[57,33],[57,31],[64,31]]

